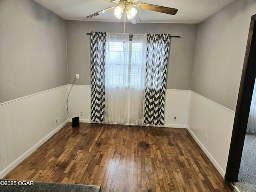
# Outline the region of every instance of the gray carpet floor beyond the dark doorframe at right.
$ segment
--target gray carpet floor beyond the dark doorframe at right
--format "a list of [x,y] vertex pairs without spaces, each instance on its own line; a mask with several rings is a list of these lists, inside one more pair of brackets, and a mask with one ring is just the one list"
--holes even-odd
[[256,134],[245,136],[238,182],[234,184],[240,192],[256,192]]

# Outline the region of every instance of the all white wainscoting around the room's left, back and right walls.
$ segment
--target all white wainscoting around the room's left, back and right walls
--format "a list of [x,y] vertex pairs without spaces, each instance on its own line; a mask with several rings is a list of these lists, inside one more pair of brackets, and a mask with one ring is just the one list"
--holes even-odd
[[[0,104],[0,178],[71,120],[66,110],[70,88],[61,86]],[[90,101],[91,86],[74,85],[68,100],[70,114],[90,122]],[[223,177],[234,116],[231,110],[190,90],[166,90],[164,126],[187,128]]]

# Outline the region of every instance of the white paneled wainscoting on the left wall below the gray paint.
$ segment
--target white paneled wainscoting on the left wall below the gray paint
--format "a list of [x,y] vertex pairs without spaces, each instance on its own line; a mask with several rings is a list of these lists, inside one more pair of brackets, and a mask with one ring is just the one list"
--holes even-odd
[[67,87],[0,104],[0,178],[68,123]]

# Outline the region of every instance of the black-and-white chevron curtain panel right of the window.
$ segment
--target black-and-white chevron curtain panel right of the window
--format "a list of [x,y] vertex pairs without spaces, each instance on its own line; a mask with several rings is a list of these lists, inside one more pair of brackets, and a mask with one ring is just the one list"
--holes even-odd
[[164,124],[169,44],[168,34],[147,34],[144,124]]

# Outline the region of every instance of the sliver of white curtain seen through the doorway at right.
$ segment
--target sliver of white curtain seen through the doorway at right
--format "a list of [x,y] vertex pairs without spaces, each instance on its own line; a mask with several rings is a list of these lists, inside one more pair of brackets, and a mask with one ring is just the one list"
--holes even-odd
[[256,82],[254,83],[254,89],[252,93],[252,102],[250,106],[250,113],[249,113],[246,132],[256,133]]

